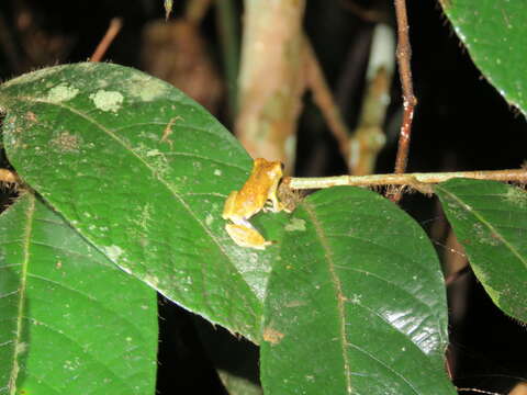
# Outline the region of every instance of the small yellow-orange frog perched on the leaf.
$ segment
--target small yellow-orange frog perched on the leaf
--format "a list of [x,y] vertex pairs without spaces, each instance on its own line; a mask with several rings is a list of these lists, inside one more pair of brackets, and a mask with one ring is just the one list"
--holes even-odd
[[[279,161],[255,159],[253,171],[244,187],[228,195],[222,216],[232,222],[225,224],[225,230],[238,246],[265,249],[272,244],[266,240],[248,219],[260,210],[273,213],[285,210],[277,198],[278,183],[282,176],[282,163]],[[266,206],[269,201],[270,206]]]

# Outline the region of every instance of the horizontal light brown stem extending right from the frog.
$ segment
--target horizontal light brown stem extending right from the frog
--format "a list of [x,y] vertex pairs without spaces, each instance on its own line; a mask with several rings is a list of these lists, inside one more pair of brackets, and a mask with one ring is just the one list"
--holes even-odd
[[337,185],[410,185],[418,189],[418,184],[435,184],[453,178],[470,178],[478,180],[513,181],[527,183],[526,169],[489,170],[489,171],[455,171],[437,173],[406,174],[372,174],[372,176],[336,176],[317,178],[290,178],[291,189],[321,189]]

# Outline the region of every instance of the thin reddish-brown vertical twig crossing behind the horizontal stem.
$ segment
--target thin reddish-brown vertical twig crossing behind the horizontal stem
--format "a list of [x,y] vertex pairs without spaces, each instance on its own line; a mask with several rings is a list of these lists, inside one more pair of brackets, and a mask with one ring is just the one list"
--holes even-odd
[[[406,0],[394,0],[395,15],[397,19],[397,50],[396,58],[399,65],[399,75],[403,90],[403,123],[399,136],[397,157],[395,159],[395,173],[404,173],[408,161],[410,137],[412,134],[412,120],[414,117],[414,108],[417,99],[414,95],[412,84],[412,68],[410,59],[412,58],[412,47],[408,38],[408,20],[406,16]],[[401,199],[401,192],[395,193],[393,201]]]

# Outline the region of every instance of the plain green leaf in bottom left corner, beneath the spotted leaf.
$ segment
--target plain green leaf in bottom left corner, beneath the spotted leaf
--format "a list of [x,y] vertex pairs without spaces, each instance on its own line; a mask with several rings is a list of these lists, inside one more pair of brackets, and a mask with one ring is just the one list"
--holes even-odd
[[153,394],[156,307],[33,195],[0,216],[0,394]]

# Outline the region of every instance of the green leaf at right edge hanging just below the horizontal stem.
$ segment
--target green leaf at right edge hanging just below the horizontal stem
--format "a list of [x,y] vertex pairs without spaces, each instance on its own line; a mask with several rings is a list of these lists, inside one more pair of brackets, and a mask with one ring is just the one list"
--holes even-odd
[[436,187],[470,266],[494,303],[527,323],[527,193],[497,181]]

